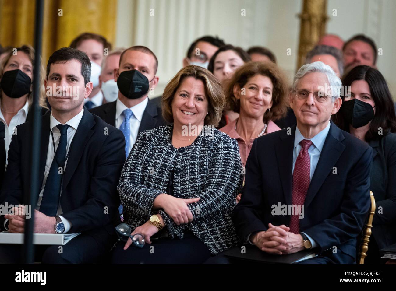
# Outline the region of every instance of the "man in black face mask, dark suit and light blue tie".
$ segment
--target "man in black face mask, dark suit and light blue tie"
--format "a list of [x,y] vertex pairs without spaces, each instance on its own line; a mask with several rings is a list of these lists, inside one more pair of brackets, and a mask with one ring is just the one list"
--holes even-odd
[[124,133],[126,157],[139,133],[166,125],[161,109],[147,97],[158,84],[157,67],[157,57],[145,46],[126,49],[121,54],[119,68],[114,70],[114,81],[119,88],[117,100],[90,110]]

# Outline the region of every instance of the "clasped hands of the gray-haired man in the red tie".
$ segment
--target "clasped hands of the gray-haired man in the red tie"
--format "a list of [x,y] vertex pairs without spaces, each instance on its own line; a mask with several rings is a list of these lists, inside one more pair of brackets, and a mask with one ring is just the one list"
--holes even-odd
[[303,237],[301,234],[289,232],[290,228],[284,224],[274,226],[268,224],[266,231],[252,234],[249,240],[262,251],[274,255],[285,255],[297,253],[304,249]]

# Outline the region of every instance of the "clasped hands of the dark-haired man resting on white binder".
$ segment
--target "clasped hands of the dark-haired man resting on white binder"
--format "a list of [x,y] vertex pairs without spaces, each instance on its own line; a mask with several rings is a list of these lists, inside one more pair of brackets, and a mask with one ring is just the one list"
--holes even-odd
[[[13,214],[6,214],[4,218],[9,219],[8,229],[14,233],[25,232],[25,206],[13,207]],[[34,209],[34,233],[54,234],[55,217],[50,217]]]

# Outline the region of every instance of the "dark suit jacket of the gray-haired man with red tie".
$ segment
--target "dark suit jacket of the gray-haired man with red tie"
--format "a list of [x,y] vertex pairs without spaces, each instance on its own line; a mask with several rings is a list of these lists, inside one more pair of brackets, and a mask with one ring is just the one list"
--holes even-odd
[[[296,125],[255,139],[246,163],[242,199],[232,218],[244,239],[267,230],[268,223],[288,225],[289,215],[272,215],[272,205],[291,205],[293,147]],[[331,122],[320,159],[305,198],[300,230],[318,244],[321,255],[335,261],[356,258],[356,236],[370,206],[372,149]],[[336,167],[336,168],[334,168]],[[335,173],[335,169],[337,174]]]

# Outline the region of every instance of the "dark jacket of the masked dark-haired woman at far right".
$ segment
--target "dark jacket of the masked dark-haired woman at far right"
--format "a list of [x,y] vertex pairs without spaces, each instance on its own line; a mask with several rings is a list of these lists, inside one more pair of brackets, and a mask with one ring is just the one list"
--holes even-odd
[[388,133],[369,145],[373,148],[370,190],[376,208],[372,232],[382,249],[396,243],[396,134]]

